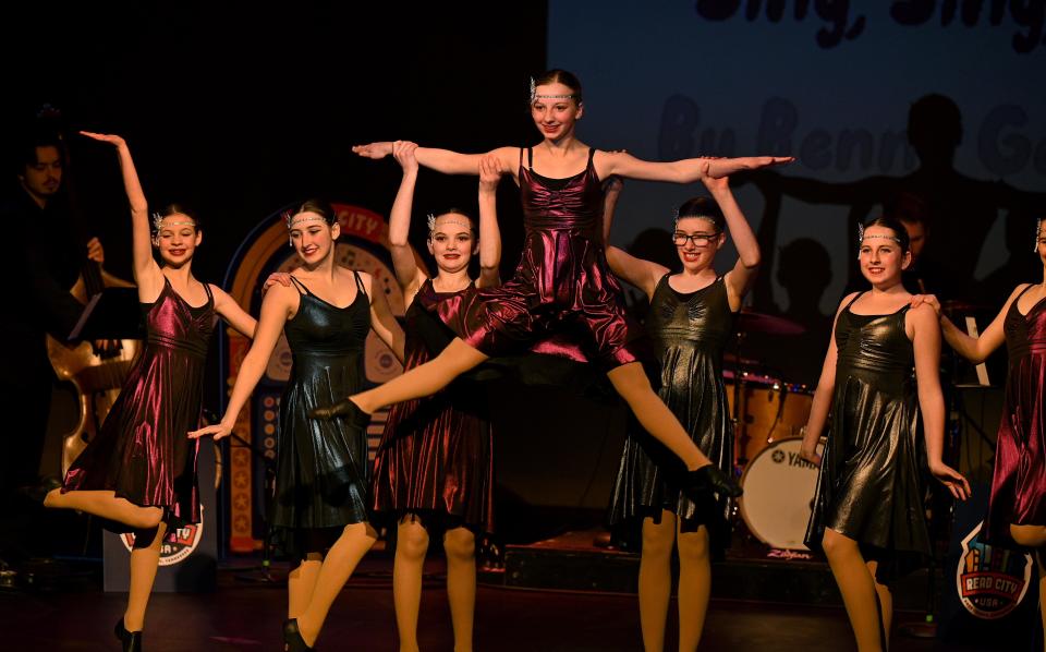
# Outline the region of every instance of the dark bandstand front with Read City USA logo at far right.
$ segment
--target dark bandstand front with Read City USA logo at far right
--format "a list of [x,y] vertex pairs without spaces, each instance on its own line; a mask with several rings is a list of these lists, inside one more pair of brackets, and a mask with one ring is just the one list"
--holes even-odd
[[989,491],[975,483],[973,497],[956,507],[937,637],[970,645],[963,649],[1042,650],[1034,559],[981,540]]

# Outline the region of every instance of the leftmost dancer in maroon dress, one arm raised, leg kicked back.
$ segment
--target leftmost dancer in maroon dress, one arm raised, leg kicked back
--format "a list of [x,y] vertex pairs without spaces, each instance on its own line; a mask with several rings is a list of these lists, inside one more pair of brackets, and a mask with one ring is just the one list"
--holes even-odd
[[221,289],[193,277],[193,254],[202,238],[196,218],[168,206],[154,215],[150,234],[145,194],[123,138],[82,133],[114,145],[120,156],[148,341],[98,436],[44,504],[93,514],[109,529],[134,532],[127,609],[115,635],[124,650],[139,650],[160,545],[179,523],[199,522],[197,443],[187,434],[199,425],[215,314],[248,337],[256,322]]

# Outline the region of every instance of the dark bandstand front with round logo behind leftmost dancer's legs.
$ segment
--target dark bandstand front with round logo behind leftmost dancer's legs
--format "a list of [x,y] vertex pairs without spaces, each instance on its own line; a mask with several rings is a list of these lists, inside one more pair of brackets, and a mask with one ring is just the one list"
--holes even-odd
[[[154,592],[193,593],[215,589],[218,579],[218,447],[214,440],[200,439],[196,457],[200,522],[179,529],[173,542],[163,543]],[[133,543],[133,534],[105,533],[106,591],[127,590],[131,579],[127,557]]]

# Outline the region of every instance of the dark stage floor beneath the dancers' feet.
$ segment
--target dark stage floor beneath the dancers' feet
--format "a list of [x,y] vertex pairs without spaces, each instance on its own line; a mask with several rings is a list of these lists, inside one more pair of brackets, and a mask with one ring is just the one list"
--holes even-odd
[[[272,582],[240,560],[219,570],[218,591],[153,596],[145,637],[149,652],[279,650],[284,617],[285,565],[273,565]],[[101,591],[100,566],[27,589],[0,591],[4,650],[119,650],[112,625],[125,595]],[[451,650],[443,564],[426,566],[419,638],[423,650]],[[392,611],[392,562],[388,553],[364,560],[335,603],[318,650],[397,650]],[[674,608],[674,602],[672,605]],[[667,649],[674,649],[674,614]],[[899,624],[920,614],[899,613]],[[895,633],[893,652],[957,650],[932,639]],[[625,593],[550,591],[482,583],[476,604],[475,648],[485,651],[641,650],[635,596]],[[702,650],[811,652],[853,649],[846,613],[836,606],[714,600]]]

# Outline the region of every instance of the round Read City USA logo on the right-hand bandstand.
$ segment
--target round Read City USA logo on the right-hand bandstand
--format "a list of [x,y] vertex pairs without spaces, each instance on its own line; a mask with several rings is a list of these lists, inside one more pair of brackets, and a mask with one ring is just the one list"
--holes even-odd
[[959,600],[978,618],[994,620],[1012,612],[1027,592],[1032,557],[981,543],[982,523],[962,540],[962,554],[956,569]]

